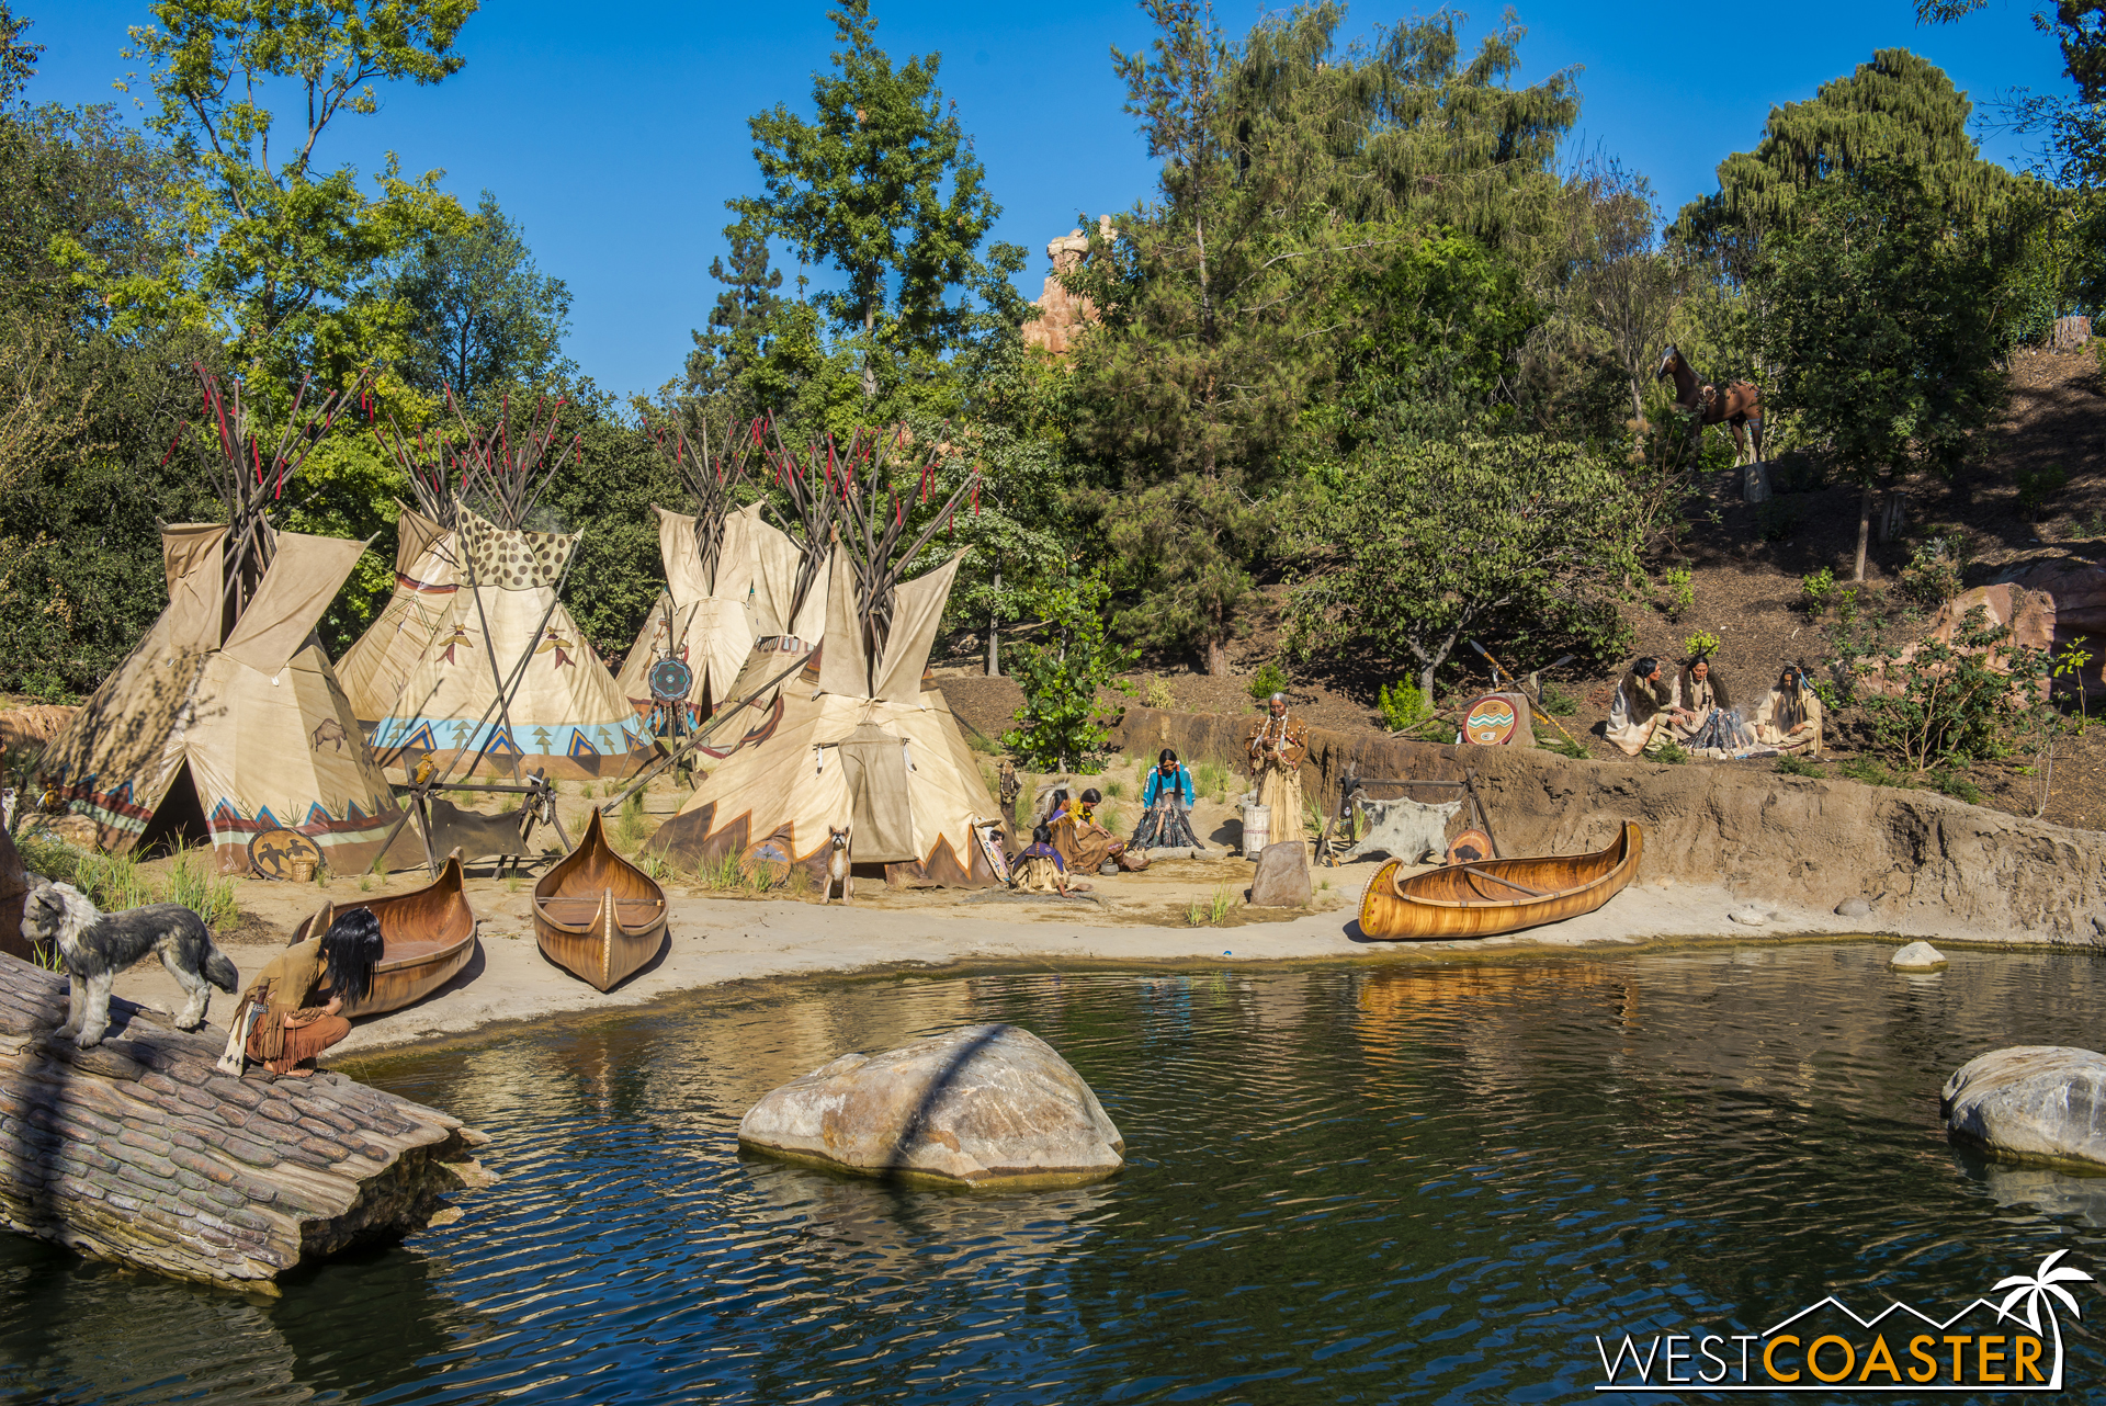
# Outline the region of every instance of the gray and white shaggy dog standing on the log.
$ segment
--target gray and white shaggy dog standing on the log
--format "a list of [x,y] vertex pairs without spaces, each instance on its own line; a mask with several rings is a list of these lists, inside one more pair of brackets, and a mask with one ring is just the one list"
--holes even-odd
[[204,1008],[213,1000],[206,981],[232,993],[242,979],[227,953],[213,945],[204,920],[181,903],[103,913],[72,884],[44,884],[23,903],[21,935],[32,943],[55,945],[65,960],[74,998],[59,1033],[80,1048],[103,1042],[110,1027],[110,983],[150,951],[190,991],[190,1004],[175,1017],[177,1029],[204,1025]]

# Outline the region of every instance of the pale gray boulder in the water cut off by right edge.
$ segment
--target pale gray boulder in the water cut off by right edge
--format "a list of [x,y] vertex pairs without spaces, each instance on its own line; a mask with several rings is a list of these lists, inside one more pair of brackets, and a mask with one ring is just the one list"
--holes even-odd
[[2106,1054],[2020,1044],[1961,1065],[1940,1099],[1946,1128],[1992,1151],[2106,1166]]

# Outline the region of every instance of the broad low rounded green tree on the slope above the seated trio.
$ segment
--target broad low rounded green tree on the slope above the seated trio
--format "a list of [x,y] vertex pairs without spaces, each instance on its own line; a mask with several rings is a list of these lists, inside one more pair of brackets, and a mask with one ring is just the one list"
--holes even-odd
[[[1371,448],[1323,520],[1306,522],[1289,644],[1308,659],[1371,648],[1434,678],[1478,634],[1521,648],[1624,644],[1615,591],[1638,575],[1622,478],[1535,436]],[[1350,530],[1337,530],[1350,522]]]

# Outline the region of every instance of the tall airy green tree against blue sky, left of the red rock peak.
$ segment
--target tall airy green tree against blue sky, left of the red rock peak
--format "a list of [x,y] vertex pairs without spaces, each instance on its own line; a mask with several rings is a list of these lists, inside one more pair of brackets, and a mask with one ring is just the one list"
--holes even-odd
[[[802,263],[832,267],[842,286],[813,305],[838,341],[828,352],[853,362],[863,400],[853,419],[941,413],[948,360],[1002,324],[1013,333],[1021,314],[1007,276],[1024,250],[996,244],[979,257],[1000,206],[981,185],[956,107],[935,86],[937,55],[893,67],[876,46],[870,0],[842,0],[830,17],[840,48],[832,74],[813,76],[813,120],[783,105],[750,120],[767,194],[727,202],[739,215],[727,229],[735,278],[752,299],[752,250],[769,236]],[[931,385],[935,402],[918,394]]]

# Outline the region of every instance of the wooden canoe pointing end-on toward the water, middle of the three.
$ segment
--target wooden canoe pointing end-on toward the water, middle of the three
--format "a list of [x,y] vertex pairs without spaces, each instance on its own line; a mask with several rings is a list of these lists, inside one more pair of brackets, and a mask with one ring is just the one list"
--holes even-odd
[[550,962],[602,991],[665,945],[665,890],[615,852],[598,806],[577,848],[533,886],[533,935]]

